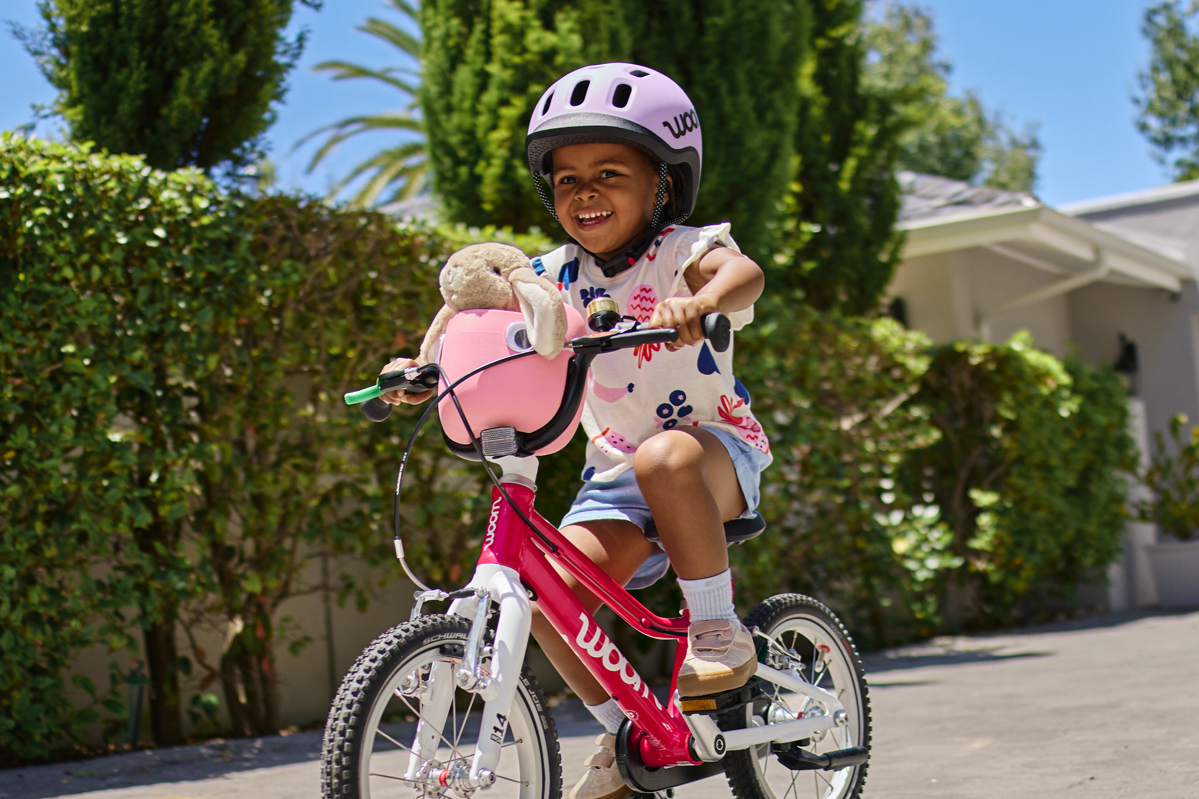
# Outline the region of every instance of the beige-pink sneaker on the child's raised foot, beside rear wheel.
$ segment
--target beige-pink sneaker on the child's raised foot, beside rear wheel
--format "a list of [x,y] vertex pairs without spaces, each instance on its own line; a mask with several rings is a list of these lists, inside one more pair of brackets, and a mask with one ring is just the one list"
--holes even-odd
[[758,670],[753,636],[741,622],[718,618],[687,628],[687,656],[679,668],[679,696],[741,688]]

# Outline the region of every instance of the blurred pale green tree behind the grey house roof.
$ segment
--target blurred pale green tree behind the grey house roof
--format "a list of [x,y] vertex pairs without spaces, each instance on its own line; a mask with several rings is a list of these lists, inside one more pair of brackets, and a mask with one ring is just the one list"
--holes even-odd
[[933,18],[920,6],[891,4],[867,18],[867,85],[908,117],[897,169],[1031,192],[1041,144],[1036,128],[1013,131],[975,91],[950,93],[951,65],[938,56]]

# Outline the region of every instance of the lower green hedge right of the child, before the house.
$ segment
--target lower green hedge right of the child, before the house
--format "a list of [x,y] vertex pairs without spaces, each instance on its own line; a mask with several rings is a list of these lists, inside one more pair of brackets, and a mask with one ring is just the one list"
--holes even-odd
[[739,340],[775,452],[773,532],[734,558],[748,599],[813,593],[886,646],[1032,618],[1034,598],[1102,579],[1135,471],[1109,367],[770,302]]

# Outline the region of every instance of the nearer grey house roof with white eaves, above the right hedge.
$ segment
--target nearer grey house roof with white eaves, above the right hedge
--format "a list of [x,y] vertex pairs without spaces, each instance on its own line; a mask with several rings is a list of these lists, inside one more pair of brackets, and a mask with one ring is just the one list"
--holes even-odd
[[1031,194],[900,172],[906,192],[897,225],[904,258],[984,247],[1065,277],[1102,268],[1102,279],[1179,291],[1194,279],[1173,253],[1159,252],[1050,208]]

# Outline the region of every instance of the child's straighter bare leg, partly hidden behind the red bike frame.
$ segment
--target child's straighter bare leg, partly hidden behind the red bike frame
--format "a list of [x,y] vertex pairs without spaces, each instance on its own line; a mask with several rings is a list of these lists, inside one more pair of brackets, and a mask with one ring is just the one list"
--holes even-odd
[[[637,569],[656,551],[652,541],[645,538],[641,528],[631,521],[621,519],[603,519],[570,525],[562,528],[567,539],[591,558],[605,574],[616,582],[625,585],[637,573]],[[583,587],[574,577],[559,569],[566,585],[579,598],[589,613],[595,613],[600,600]],[[586,704],[596,706],[610,697],[600,682],[591,676],[570,644],[553,628],[534,603],[532,635],[542,652],[554,664],[571,690]]]

